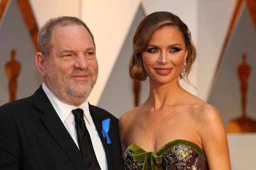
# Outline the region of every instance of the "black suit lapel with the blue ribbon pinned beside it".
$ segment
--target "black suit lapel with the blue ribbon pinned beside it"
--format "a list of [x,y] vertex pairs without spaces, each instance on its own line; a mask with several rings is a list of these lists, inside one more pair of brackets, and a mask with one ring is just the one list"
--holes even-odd
[[106,159],[107,159],[107,163],[108,163],[108,169],[111,169],[110,168],[110,167],[112,167],[111,154],[110,154],[110,151],[108,148],[108,144],[106,142],[106,138],[105,139],[103,138],[102,132],[101,132],[102,131],[102,121],[107,119],[108,117],[104,117],[103,114],[96,112],[90,104],[89,104],[89,111],[90,111],[91,117],[93,119],[93,123],[97,129],[97,132],[100,136],[100,140],[101,140],[104,150],[105,150]]

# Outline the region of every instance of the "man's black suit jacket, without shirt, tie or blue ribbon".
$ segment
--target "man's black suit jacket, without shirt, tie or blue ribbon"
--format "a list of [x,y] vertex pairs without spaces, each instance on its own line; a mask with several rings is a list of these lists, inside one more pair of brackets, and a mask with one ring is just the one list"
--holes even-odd
[[[118,119],[89,104],[91,117],[105,149],[108,170],[124,169]],[[102,120],[110,118],[111,144],[101,133]],[[39,87],[24,99],[0,106],[1,170],[85,170],[85,162],[50,100]]]

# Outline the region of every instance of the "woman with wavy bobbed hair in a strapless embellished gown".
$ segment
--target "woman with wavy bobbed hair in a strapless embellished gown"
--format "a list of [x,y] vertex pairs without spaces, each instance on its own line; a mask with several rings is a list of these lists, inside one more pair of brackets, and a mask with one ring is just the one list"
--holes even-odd
[[196,53],[187,26],[156,12],[133,38],[130,76],[149,78],[150,93],[119,120],[126,169],[230,170],[228,142],[216,108],[184,90]]

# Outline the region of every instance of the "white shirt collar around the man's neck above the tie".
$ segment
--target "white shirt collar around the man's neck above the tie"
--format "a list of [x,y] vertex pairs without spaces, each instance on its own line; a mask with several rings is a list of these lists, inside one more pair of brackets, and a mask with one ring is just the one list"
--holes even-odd
[[[71,113],[73,109],[76,109],[78,107],[72,106],[70,104],[67,104],[59,98],[57,98],[51,91],[48,89],[48,87],[43,83],[42,85],[43,91],[46,93],[46,96],[49,98],[50,102],[52,103],[52,106],[54,107],[56,113],[59,115],[61,118],[61,121],[64,122],[68,115]],[[79,108],[82,108],[84,110],[84,116],[88,119],[89,123],[91,123],[91,115],[89,112],[89,104],[88,100],[86,99],[85,102],[83,102]]]

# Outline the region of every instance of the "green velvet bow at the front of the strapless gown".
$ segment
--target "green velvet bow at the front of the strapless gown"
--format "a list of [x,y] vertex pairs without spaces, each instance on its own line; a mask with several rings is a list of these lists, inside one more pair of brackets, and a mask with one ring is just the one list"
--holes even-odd
[[162,155],[153,152],[134,153],[133,161],[144,160],[143,170],[157,170],[157,164],[162,164]]

